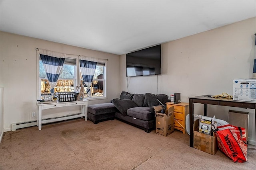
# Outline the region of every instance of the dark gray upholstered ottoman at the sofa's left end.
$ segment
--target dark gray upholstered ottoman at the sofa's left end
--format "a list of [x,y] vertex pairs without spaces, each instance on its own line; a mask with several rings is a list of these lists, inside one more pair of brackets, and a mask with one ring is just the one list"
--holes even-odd
[[88,106],[88,119],[94,124],[105,120],[114,120],[116,107],[112,103],[92,104]]

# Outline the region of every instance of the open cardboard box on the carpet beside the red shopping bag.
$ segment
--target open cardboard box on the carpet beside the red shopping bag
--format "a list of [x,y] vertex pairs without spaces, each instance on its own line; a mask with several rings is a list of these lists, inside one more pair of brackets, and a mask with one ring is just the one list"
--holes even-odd
[[207,152],[209,154],[216,154],[218,150],[218,145],[216,141],[215,133],[213,136],[206,135],[204,133],[198,132],[199,129],[199,119],[194,121],[193,129],[194,129],[194,148]]

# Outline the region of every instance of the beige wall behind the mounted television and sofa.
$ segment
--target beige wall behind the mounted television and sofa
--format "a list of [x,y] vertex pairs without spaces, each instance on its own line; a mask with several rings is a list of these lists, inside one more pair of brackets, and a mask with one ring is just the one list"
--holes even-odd
[[[131,93],[181,93],[188,97],[204,94],[232,95],[232,80],[252,78],[256,18],[233,23],[162,44],[162,75],[126,78],[125,55],[120,59],[121,90]],[[203,114],[202,104],[195,113]],[[252,109],[208,106],[209,115],[227,121],[228,109],[249,111],[249,141],[255,145],[255,113]]]

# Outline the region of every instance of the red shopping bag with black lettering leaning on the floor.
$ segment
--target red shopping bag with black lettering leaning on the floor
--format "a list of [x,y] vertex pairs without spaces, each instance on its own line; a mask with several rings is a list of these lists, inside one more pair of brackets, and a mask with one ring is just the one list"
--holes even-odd
[[219,126],[216,131],[218,148],[233,162],[247,161],[247,140],[245,128],[233,125]]

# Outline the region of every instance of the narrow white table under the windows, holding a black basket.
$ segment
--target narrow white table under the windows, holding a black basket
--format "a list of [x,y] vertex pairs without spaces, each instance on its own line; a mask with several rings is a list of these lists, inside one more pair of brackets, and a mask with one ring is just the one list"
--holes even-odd
[[[54,121],[74,119],[77,117],[84,117],[85,121],[87,121],[88,100],[86,100],[86,99],[84,99],[83,101],[57,102],[57,103],[50,103],[50,104],[44,104],[42,102],[38,102],[37,106],[38,106],[38,116],[37,116],[38,130],[42,129],[42,123],[50,123],[50,122],[54,122]],[[62,117],[42,119],[42,110],[52,109],[52,108],[57,108],[57,107],[67,107],[67,106],[81,106],[81,113],[62,116]]]

